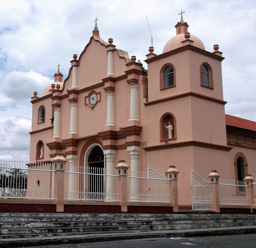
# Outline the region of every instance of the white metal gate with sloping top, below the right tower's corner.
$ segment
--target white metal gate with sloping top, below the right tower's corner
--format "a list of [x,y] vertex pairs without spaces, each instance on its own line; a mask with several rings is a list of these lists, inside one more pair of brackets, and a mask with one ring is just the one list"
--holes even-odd
[[192,210],[212,210],[210,183],[191,172]]

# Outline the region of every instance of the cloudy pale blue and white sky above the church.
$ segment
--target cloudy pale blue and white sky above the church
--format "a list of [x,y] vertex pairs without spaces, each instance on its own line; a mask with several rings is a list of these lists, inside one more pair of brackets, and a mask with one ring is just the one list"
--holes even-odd
[[58,64],[67,77],[96,17],[100,37],[147,68],[150,30],[161,54],[181,10],[188,32],[223,52],[226,114],[256,121],[255,0],[0,0],[0,159],[29,160],[33,92],[42,96]]

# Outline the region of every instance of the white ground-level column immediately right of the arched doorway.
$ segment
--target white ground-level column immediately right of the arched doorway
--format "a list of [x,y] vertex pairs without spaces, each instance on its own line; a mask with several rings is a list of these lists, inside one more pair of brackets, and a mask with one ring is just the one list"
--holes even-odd
[[[114,168],[115,168],[115,154],[114,153],[106,153],[106,174],[114,175]],[[108,176],[106,178],[106,200],[114,200],[112,193],[115,192],[115,178],[112,176]]]

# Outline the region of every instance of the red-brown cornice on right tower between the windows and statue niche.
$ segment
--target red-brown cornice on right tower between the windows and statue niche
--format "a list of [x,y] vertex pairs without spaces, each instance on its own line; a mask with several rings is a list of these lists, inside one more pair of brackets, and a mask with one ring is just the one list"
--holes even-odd
[[193,97],[201,98],[201,99],[208,100],[208,101],[211,101],[211,102],[216,102],[216,103],[219,103],[219,104],[222,104],[222,105],[225,105],[227,103],[227,102],[225,102],[223,100],[219,100],[217,98],[213,98],[213,97],[210,97],[210,96],[205,96],[205,95],[198,94],[198,93],[190,91],[190,92],[181,93],[181,94],[178,94],[178,95],[175,95],[175,96],[168,96],[166,98],[162,98],[162,99],[158,99],[158,100],[154,100],[154,101],[150,101],[150,102],[145,102],[144,105],[148,106],[148,105],[158,104],[160,102],[168,102],[170,100],[183,98],[183,97],[187,97],[187,96],[193,96]]

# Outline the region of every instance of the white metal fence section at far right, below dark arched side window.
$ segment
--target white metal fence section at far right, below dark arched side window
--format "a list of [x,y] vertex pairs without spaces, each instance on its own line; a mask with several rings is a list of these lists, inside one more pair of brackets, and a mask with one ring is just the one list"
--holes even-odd
[[248,205],[249,199],[246,194],[244,181],[219,180],[220,204]]

